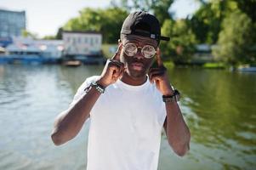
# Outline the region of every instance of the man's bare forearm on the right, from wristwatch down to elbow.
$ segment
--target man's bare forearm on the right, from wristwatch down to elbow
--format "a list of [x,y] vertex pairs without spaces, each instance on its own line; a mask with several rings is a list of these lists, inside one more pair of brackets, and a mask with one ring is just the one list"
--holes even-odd
[[185,156],[190,150],[191,133],[176,102],[166,103],[167,117],[163,124],[165,133],[174,152],[178,156]]

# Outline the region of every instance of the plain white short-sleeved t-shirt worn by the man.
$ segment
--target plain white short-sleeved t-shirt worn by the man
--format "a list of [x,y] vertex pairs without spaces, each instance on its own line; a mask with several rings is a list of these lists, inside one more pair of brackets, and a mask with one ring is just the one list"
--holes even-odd
[[[98,79],[86,79],[71,105]],[[156,170],[165,117],[162,94],[148,80],[105,88],[90,112],[87,170]]]

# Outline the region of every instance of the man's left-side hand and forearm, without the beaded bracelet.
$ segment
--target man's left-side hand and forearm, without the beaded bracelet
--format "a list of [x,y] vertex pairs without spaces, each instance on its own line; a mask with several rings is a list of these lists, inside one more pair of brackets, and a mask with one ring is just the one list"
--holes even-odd
[[[124,65],[120,62],[121,50],[122,44],[119,44],[117,53],[105,64],[98,81],[104,88],[117,82],[117,79],[122,77]],[[96,88],[90,88],[87,94],[84,94],[75,105],[72,105],[67,111],[63,111],[57,116],[54,122],[54,130],[51,134],[54,144],[64,144],[77,136],[99,97],[100,92]]]

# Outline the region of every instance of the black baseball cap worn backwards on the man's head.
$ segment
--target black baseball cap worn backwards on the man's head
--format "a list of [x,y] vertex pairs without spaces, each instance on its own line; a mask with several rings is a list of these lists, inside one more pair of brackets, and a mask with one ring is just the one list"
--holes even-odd
[[155,39],[158,44],[160,40],[170,40],[169,37],[161,36],[161,26],[156,17],[145,11],[128,14],[128,17],[122,23],[121,39],[123,35],[150,37],[151,39]]

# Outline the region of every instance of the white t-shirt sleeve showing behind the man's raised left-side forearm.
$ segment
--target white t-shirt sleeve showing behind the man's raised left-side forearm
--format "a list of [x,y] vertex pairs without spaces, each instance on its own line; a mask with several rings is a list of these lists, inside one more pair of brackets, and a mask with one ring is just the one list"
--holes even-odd
[[74,95],[74,98],[70,106],[75,105],[79,101],[79,99],[81,99],[82,96],[86,94],[85,89],[88,88],[92,82],[95,82],[99,79],[100,79],[100,76],[88,77],[84,82],[82,82],[82,85],[77,89],[77,93]]

